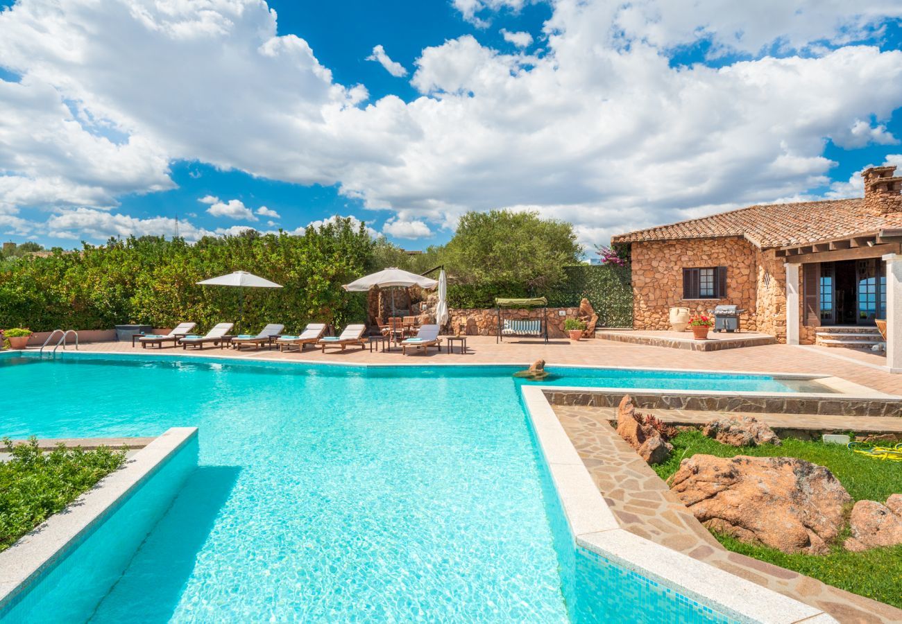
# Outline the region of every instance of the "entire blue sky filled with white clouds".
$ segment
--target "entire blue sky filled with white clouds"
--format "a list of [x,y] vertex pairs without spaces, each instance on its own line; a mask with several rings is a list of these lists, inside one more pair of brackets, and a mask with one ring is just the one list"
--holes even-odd
[[341,215],[419,249],[510,207],[591,247],[860,195],[863,167],[902,165],[902,9],[762,2],[0,2],[0,237]]

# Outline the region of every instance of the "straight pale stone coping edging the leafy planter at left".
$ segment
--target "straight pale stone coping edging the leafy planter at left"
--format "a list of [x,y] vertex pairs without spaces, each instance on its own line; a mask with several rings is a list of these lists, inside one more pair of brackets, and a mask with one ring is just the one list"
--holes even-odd
[[197,427],[170,428],[127,459],[122,468],[0,553],[0,619],[161,466],[197,438]]

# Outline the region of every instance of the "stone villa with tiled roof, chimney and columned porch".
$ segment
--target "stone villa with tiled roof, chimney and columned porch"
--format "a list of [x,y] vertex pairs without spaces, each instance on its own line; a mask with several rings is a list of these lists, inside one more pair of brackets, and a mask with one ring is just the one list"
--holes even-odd
[[862,198],[749,206],[614,236],[629,247],[634,328],[668,329],[670,307],[734,304],[746,310],[743,330],[781,343],[843,345],[862,344],[865,328],[887,319],[888,368],[902,372],[895,170],[865,170]]

